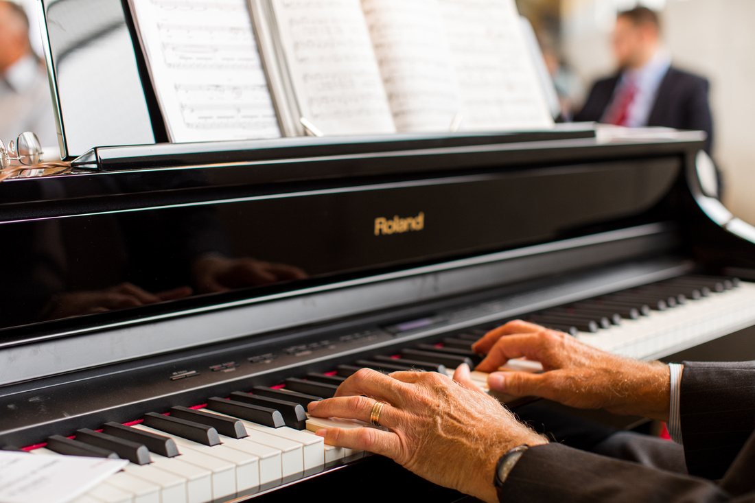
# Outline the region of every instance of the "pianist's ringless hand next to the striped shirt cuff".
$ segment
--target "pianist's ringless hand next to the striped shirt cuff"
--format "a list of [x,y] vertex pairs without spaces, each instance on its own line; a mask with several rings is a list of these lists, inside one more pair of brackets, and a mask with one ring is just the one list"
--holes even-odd
[[[473,350],[488,356],[477,366],[488,387],[516,397],[543,397],[578,409],[606,409],[668,421],[668,367],[597,350],[571,335],[523,321],[485,334]],[[543,365],[541,374],[495,372],[524,356]]]

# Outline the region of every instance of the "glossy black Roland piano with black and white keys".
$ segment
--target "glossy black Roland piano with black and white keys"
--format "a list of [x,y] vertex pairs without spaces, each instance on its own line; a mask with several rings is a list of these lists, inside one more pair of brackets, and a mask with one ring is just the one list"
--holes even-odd
[[[49,2],[48,23],[64,3]],[[82,503],[351,499],[375,480],[455,501],[322,442],[270,475],[264,455],[233,457],[227,421],[210,447],[161,418],[246,418],[282,460],[317,438],[291,403],[330,396],[361,366],[474,363],[471,341],[515,318],[638,358],[755,358],[755,229],[706,184],[703,144],[590,125],[161,143],[97,147],[65,174],[4,181],[0,448],[132,459]],[[274,414],[249,407],[260,397],[283,397],[275,429],[298,440],[270,440]],[[149,431],[177,437],[180,455]],[[149,447],[152,471],[112,437]],[[202,467],[202,455],[230,468]],[[178,464],[195,479],[179,480]]]

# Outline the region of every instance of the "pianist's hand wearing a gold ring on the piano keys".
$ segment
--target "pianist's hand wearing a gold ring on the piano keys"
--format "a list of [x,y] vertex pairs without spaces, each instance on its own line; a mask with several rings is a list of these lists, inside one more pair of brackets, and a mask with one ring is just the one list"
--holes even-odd
[[547,440],[476,387],[469,372],[462,365],[451,380],[436,372],[384,375],[361,369],[334,398],[310,403],[309,412],[369,422],[374,404],[384,401],[380,424],[387,430],[328,428],[317,434],[330,445],[386,455],[431,482],[498,501],[493,486],[498,458],[523,443]]

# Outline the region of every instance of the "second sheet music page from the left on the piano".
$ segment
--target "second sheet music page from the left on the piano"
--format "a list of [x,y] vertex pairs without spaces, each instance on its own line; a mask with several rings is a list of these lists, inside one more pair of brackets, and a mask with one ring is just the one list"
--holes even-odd
[[272,0],[302,116],[324,134],[393,133],[359,0]]

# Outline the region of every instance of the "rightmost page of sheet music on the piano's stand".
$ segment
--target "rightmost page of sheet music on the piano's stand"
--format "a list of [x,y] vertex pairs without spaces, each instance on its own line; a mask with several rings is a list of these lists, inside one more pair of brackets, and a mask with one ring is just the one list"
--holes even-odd
[[464,101],[462,129],[553,126],[514,0],[438,0]]

